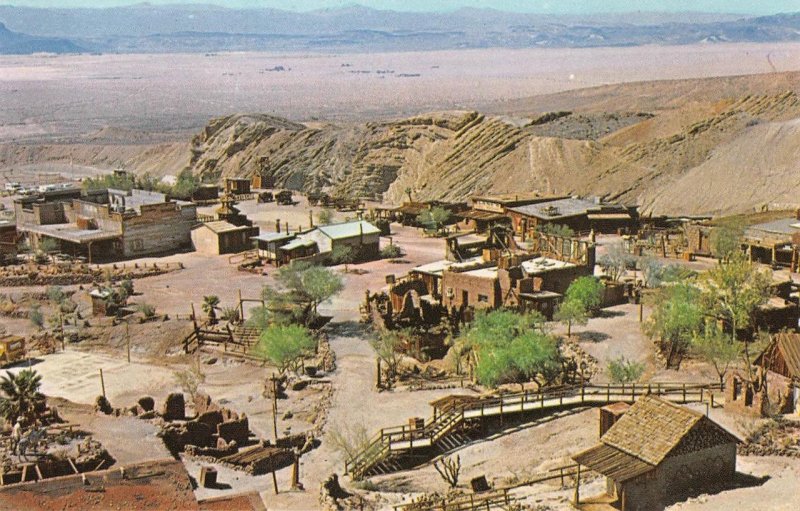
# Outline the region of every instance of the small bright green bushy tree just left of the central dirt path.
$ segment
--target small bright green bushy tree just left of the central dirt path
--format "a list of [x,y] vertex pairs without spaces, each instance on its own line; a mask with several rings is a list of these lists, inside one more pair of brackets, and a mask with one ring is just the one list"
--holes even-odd
[[288,370],[297,372],[303,356],[313,350],[316,343],[308,329],[300,325],[270,325],[253,346],[255,355],[275,364],[281,374]]

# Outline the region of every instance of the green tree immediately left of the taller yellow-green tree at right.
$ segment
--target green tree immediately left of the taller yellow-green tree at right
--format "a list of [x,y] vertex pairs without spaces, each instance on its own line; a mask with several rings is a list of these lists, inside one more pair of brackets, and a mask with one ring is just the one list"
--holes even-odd
[[700,291],[692,284],[663,287],[656,294],[653,313],[643,329],[650,337],[658,339],[667,357],[667,367],[680,367],[703,317]]

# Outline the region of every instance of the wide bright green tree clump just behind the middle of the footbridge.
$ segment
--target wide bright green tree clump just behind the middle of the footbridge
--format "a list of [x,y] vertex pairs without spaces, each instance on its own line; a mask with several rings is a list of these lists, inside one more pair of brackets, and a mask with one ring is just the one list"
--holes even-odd
[[544,331],[540,314],[508,310],[480,312],[464,333],[484,385],[535,381],[543,387],[561,374],[558,340]]

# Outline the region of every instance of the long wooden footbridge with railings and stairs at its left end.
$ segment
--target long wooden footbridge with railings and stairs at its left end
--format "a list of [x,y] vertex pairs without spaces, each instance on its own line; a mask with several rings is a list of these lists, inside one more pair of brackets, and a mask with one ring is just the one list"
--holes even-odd
[[[446,453],[471,441],[470,431],[488,421],[500,421],[526,413],[550,413],[576,406],[600,406],[619,401],[633,403],[645,394],[654,394],[675,403],[714,402],[719,384],[651,383],[628,385],[584,385],[553,391],[504,394],[466,401],[439,411],[419,427],[398,426],[381,429],[370,443],[345,462],[345,473],[354,480],[395,472],[403,460]],[[477,426],[477,428],[476,428]]]

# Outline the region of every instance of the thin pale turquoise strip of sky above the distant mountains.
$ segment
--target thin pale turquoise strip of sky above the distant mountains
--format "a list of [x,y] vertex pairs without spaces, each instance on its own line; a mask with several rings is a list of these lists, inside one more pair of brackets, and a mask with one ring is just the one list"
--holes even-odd
[[[111,7],[131,0],[0,0],[0,5],[29,7]],[[216,4],[227,7],[274,7],[311,10],[358,3],[398,11],[446,11],[459,7],[491,7],[506,11],[554,14],[667,11],[773,14],[800,11],[800,0],[151,0],[152,4]]]

